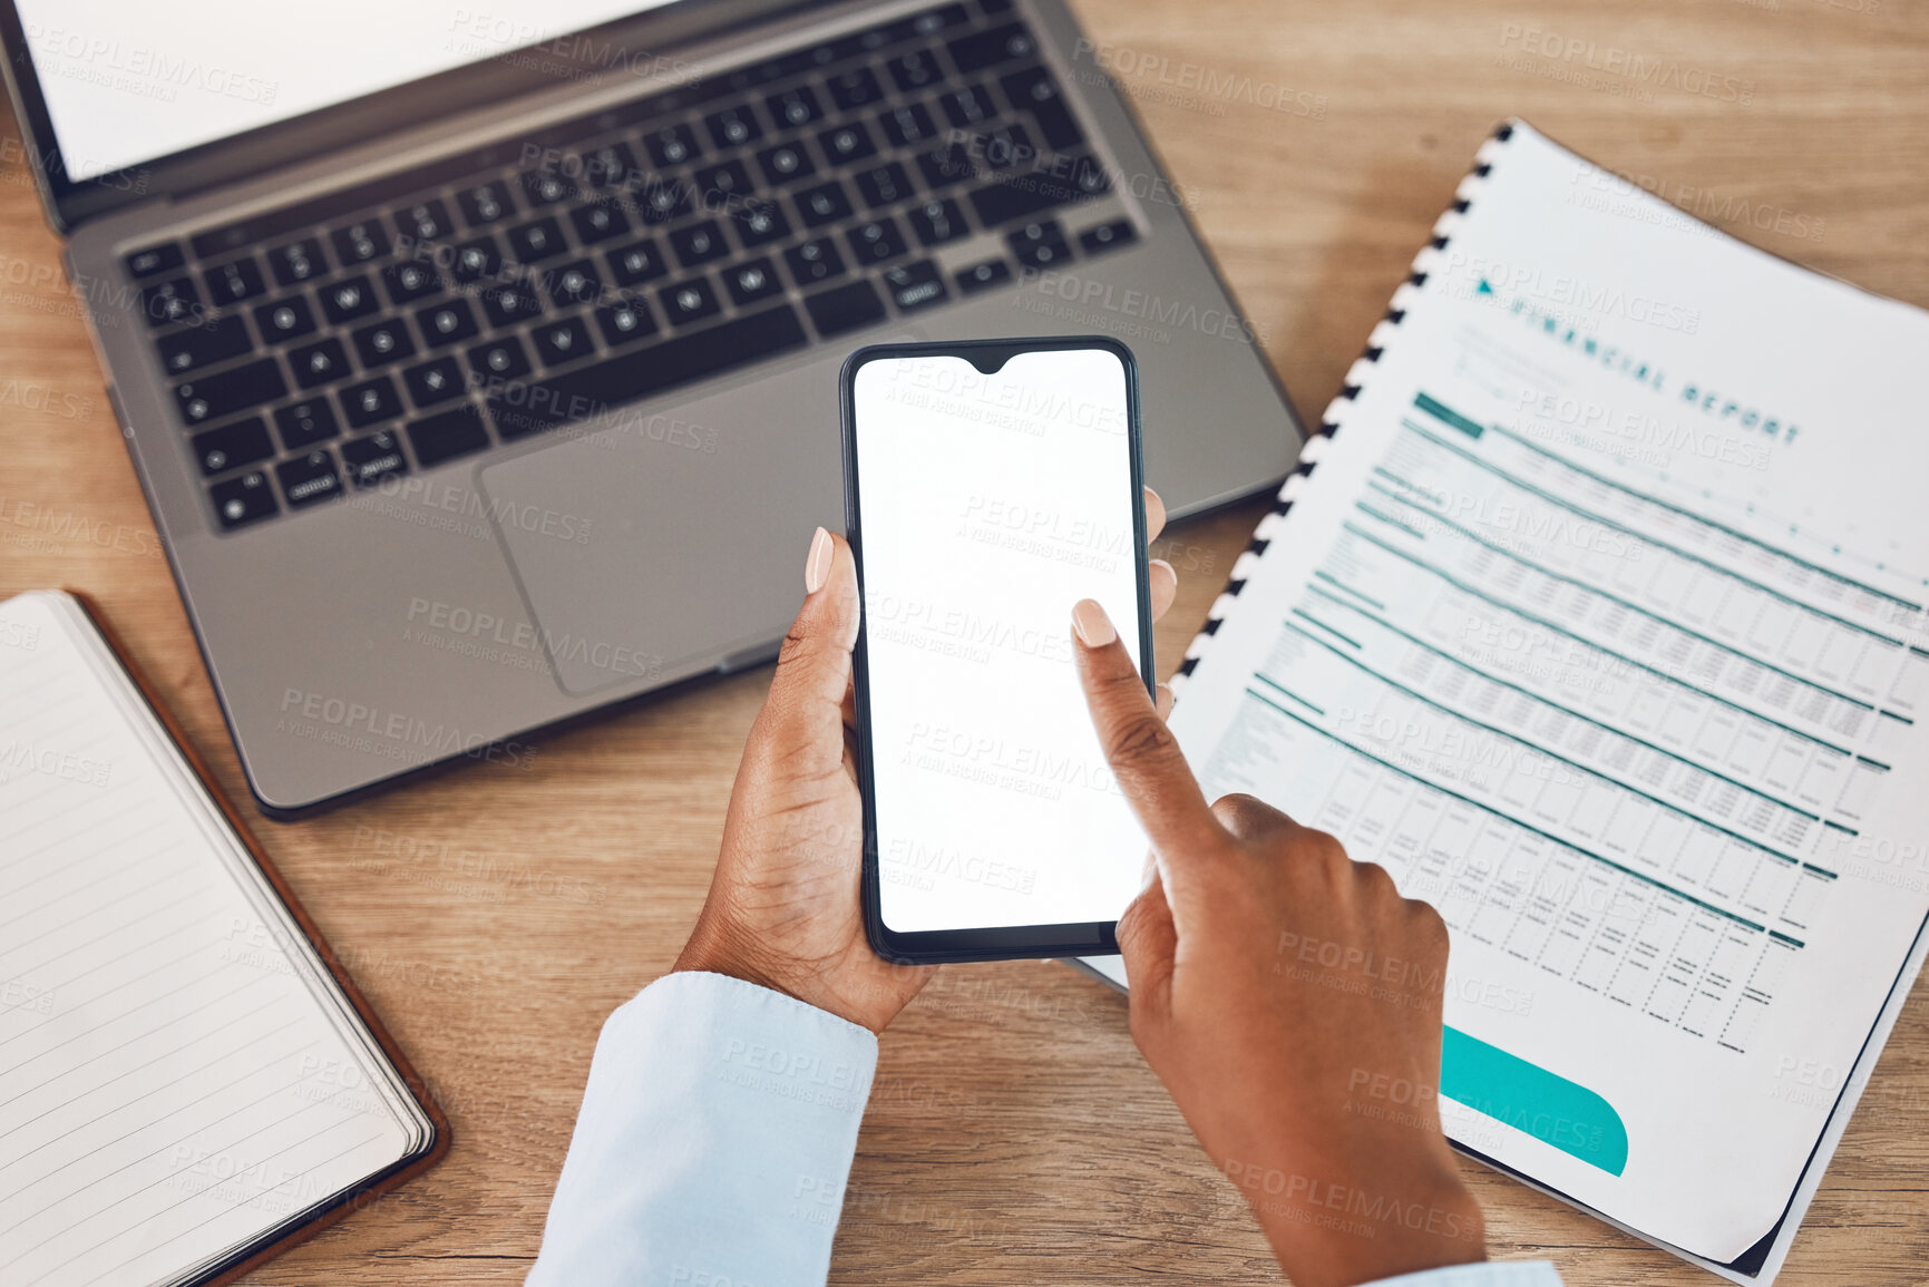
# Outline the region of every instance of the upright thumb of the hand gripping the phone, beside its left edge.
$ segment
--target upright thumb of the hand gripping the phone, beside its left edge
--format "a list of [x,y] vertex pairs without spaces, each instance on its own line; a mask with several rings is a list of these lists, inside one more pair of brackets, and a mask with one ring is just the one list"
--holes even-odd
[[797,741],[822,741],[837,758],[843,756],[843,698],[851,685],[851,646],[860,616],[851,546],[820,527],[804,556],[804,606],[783,637],[760,722],[793,726]]

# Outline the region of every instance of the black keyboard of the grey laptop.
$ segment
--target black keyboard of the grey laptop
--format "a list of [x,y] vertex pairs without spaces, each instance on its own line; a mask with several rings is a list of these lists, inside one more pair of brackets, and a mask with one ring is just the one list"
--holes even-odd
[[[1109,189],[1030,31],[980,0],[125,266],[239,529],[1127,245],[1078,220]],[[941,268],[966,237],[993,249]]]

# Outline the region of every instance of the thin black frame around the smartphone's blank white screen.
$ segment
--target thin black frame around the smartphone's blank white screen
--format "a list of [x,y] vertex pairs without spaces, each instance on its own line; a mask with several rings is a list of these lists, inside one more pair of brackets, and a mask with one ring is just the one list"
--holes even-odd
[[[1146,475],[1140,452],[1138,424],[1138,359],[1132,349],[1105,336],[1034,336],[1019,340],[953,340],[918,343],[874,343],[851,353],[837,376],[839,419],[843,424],[845,467],[845,538],[856,560],[858,600],[864,594],[864,525],[858,507],[856,477],[856,401],[855,384],[860,367],[897,357],[957,357],[974,367],[997,359],[993,370],[1019,353],[1103,349],[1125,369],[1125,438],[1132,473],[1132,548],[1138,589],[1138,668],[1146,691],[1155,691],[1152,654],[1152,589],[1146,552]],[[982,369],[982,367],[980,367]],[[1067,606],[1069,608],[1069,606]],[[1071,623],[1067,621],[1067,627]],[[1113,955],[1119,951],[1117,920],[1088,920],[1073,924],[1020,924],[961,930],[891,930],[883,924],[878,874],[878,812],[872,793],[870,737],[870,654],[868,623],[860,617],[856,644],[851,650],[851,687],[856,706],[855,760],[858,791],[864,799],[864,934],[872,951],[905,965],[939,965],[947,961],[1013,961],[1022,957]]]

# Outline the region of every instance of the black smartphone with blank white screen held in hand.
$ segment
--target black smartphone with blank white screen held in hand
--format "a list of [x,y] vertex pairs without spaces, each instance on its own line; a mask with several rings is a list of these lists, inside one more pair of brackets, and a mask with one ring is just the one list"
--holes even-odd
[[1101,338],[843,369],[864,922],[893,961],[1107,955],[1146,835],[1073,664],[1096,598],[1152,689],[1138,372]]

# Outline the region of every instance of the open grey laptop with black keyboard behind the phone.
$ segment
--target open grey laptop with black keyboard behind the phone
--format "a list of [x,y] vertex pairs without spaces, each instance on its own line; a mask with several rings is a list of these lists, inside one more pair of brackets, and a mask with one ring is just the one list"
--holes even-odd
[[1061,0],[12,0],[8,87],[274,818],[768,662],[883,340],[1105,334],[1175,515],[1300,442]]

